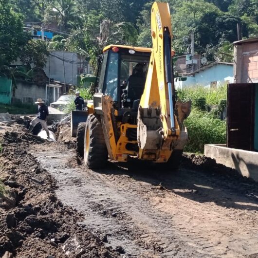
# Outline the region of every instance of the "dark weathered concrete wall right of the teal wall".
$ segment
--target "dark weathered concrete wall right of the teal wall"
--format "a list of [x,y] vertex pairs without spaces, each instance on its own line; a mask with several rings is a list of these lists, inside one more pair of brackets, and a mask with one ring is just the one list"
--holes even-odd
[[38,98],[46,98],[46,87],[38,86],[32,82],[17,81],[17,89],[13,96],[13,102],[33,104]]

